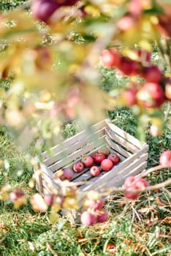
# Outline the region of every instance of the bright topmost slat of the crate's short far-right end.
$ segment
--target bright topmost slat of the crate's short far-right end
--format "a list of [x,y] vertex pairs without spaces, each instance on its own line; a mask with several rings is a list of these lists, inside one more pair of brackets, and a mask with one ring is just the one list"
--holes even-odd
[[110,129],[112,129],[118,135],[123,137],[125,140],[131,142],[133,145],[137,146],[138,148],[142,148],[142,146],[144,146],[145,143],[141,143],[140,140],[137,140],[132,135],[129,135],[129,133],[124,132],[123,129],[120,129],[119,127],[115,126],[115,124],[113,124],[110,121],[110,119],[105,119],[105,122]]

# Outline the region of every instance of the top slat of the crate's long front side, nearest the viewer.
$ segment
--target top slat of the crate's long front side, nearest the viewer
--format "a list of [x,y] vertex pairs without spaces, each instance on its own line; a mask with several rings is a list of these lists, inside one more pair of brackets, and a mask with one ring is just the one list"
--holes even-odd
[[[147,152],[147,150],[148,150],[148,146],[143,146],[140,149],[140,151],[138,151],[137,153],[134,153],[132,155],[132,157],[125,159],[123,162],[120,163],[120,165],[113,168],[112,170],[110,170],[110,172],[105,173],[104,176],[102,176],[99,179],[97,179],[96,181],[94,181],[93,187],[98,187],[99,184],[106,183],[107,180],[109,180],[110,178],[113,177],[113,175],[121,172],[121,170],[123,170],[123,168],[127,167],[128,165],[132,165],[132,162],[134,162],[134,161],[139,161],[139,157],[142,156],[142,154],[145,154]],[[88,187],[90,187],[90,186],[91,185],[88,185]],[[89,189],[88,187],[86,189]]]

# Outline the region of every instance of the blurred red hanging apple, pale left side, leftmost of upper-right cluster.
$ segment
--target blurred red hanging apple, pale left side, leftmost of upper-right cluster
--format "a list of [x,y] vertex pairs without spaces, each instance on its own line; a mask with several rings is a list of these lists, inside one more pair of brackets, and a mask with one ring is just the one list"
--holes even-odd
[[100,55],[100,61],[104,67],[119,67],[121,54],[115,48],[105,49]]

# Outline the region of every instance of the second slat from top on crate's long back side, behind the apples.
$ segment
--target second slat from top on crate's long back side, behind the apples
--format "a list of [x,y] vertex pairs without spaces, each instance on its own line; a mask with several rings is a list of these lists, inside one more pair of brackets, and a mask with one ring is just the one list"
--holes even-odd
[[83,154],[87,154],[89,151],[92,151],[96,146],[100,146],[104,143],[104,136],[102,138],[99,138],[99,140],[96,140],[96,142],[89,143],[84,148],[81,148],[80,150],[74,152],[69,157],[66,157],[65,159],[61,159],[60,161],[56,162],[53,165],[50,165],[49,168],[53,172],[55,170],[59,170],[61,167],[64,167],[64,165],[68,165],[70,162],[73,162],[75,159],[80,157]]

